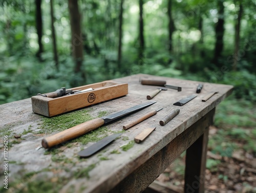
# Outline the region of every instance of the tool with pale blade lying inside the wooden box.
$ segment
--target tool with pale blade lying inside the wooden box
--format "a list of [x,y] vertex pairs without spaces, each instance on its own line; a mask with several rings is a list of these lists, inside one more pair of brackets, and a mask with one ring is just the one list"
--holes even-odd
[[61,89],[58,89],[51,93],[46,93],[46,94],[38,93],[37,95],[40,95],[43,97],[49,97],[49,98],[57,98],[57,97],[65,96],[65,95],[78,94],[78,93],[83,93],[83,92],[87,92],[87,91],[93,91],[93,89],[89,88],[89,89],[84,89],[84,90],[73,91],[73,90],[66,90],[65,87],[62,87]]

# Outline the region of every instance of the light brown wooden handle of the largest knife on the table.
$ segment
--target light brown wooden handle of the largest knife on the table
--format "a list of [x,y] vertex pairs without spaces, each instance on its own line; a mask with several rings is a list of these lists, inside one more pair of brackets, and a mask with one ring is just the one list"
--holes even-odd
[[59,132],[55,135],[42,139],[42,146],[45,148],[52,147],[54,145],[58,145],[70,139],[79,137],[83,134],[86,134],[96,128],[102,126],[104,124],[104,119],[96,118],[79,125],[73,126],[68,130]]

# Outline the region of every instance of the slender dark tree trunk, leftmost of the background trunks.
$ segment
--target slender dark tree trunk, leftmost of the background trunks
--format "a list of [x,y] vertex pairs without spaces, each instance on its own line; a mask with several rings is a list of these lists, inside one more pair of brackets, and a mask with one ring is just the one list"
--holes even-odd
[[41,60],[41,53],[43,52],[42,47],[42,12],[41,12],[41,0],[35,0],[35,24],[36,24],[36,31],[38,36],[38,46],[39,49],[36,53],[36,57]]

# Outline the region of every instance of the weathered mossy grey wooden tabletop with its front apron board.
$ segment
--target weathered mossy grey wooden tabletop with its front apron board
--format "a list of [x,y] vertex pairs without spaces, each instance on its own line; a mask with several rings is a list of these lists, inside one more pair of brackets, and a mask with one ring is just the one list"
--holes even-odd
[[[182,91],[162,91],[152,99],[157,102],[148,108],[54,148],[37,148],[41,146],[42,138],[83,122],[83,116],[88,119],[101,117],[148,101],[146,95],[158,87],[142,85],[139,82],[140,78],[166,80],[167,84],[182,87]],[[146,74],[127,76],[115,81],[129,83],[129,94],[52,118],[32,113],[30,98],[0,105],[0,144],[3,163],[0,176],[2,182],[6,176],[8,177],[9,192],[32,192],[36,188],[56,192],[143,191],[191,144],[196,144],[195,141],[198,141],[211,124],[216,106],[232,91],[231,85],[204,83],[201,93],[197,94],[196,88],[200,82]],[[210,91],[218,93],[202,102],[203,96]],[[173,105],[189,95],[197,97],[183,106]],[[125,123],[160,108],[163,110],[153,117],[129,130],[122,129]],[[161,126],[159,120],[175,109],[180,109],[180,113]],[[156,126],[156,130],[143,142],[134,143],[134,137],[150,126]],[[82,149],[94,144],[97,139],[118,132],[122,133],[121,136],[95,155],[86,159],[81,159],[77,155]],[[14,135],[21,137],[16,139]],[[8,140],[8,154],[4,154],[4,147],[7,147],[4,146],[5,138]],[[189,156],[187,153],[187,159],[194,156],[191,167],[194,167],[194,162],[200,162],[199,167],[202,167],[203,159],[200,160],[197,155],[200,156],[204,149],[197,154],[192,151],[193,147],[189,148],[192,148],[189,152],[193,155]],[[8,175],[4,175],[4,163],[8,163]],[[188,176],[190,172],[191,175],[195,174],[195,171],[189,171],[187,167]],[[200,172],[202,174],[202,171]],[[193,181],[186,182],[193,188]],[[0,184],[1,190],[5,190],[4,186],[3,183]]]

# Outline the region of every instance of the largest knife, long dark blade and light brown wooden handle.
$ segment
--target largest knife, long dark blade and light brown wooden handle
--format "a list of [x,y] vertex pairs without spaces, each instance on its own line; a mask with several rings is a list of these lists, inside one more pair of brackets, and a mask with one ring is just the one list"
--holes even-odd
[[95,130],[96,128],[109,123],[111,121],[114,121],[120,117],[123,117],[124,115],[128,115],[130,113],[133,113],[135,111],[139,111],[143,108],[146,108],[147,106],[150,106],[154,104],[156,101],[148,101],[144,102],[138,105],[135,105],[129,109],[125,109],[123,111],[119,111],[117,113],[113,113],[108,116],[96,118],[84,123],[81,123],[79,125],[73,126],[65,131],[59,132],[55,135],[52,135],[50,137],[47,137],[45,139],[42,139],[42,146],[45,148],[52,147],[54,145],[58,145],[60,143],[63,143],[65,141],[68,141],[70,139],[73,139],[75,137],[79,137],[83,134],[86,134],[90,131]]

